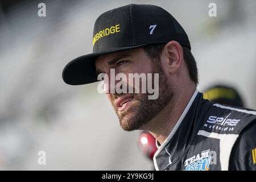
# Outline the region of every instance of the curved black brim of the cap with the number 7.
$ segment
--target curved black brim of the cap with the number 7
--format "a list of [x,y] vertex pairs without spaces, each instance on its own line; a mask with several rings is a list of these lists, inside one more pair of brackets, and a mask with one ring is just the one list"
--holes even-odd
[[140,48],[146,45],[147,44],[142,44],[139,46],[112,48],[102,52],[90,53],[88,55],[77,57],[65,66],[62,73],[62,78],[64,82],[69,85],[83,85],[96,82],[98,80],[95,61],[98,56],[118,51],[126,51],[129,49]]

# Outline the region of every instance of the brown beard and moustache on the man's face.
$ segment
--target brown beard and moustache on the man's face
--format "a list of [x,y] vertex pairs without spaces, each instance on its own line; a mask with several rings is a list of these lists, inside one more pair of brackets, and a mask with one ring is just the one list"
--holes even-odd
[[[172,89],[168,85],[168,79],[165,75],[162,65],[160,63],[152,64],[152,75],[159,73],[159,97],[156,100],[148,100],[148,93],[138,94],[111,94],[111,102],[114,107],[115,113],[119,118],[119,124],[125,131],[133,131],[141,129],[143,125],[150,122],[167,106],[168,102],[173,97]],[[154,77],[153,79],[154,80]],[[154,84],[154,82],[152,82]],[[140,82],[140,85],[141,82]],[[154,85],[153,85],[154,87]],[[153,88],[152,87],[152,88]],[[134,92],[133,92],[134,93]],[[114,100],[121,96],[133,96],[132,103],[121,113],[118,111],[118,107],[115,106]]]

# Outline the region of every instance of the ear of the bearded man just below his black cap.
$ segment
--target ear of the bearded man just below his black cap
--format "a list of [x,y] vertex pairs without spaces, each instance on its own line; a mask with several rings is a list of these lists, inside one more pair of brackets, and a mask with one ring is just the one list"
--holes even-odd
[[179,71],[179,68],[183,64],[183,50],[178,42],[172,40],[164,46],[164,67],[168,69],[170,74]]

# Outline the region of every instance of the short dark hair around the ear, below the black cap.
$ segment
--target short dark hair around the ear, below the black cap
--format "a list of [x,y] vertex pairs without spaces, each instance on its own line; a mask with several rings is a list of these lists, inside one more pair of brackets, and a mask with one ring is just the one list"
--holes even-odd
[[[143,49],[151,60],[159,61],[165,45],[166,44],[149,44],[143,47]],[[196,60],[188,47],[182,46],[182,50],[183,50],[183,57],[188,68],[189,77],[197,85],[198,72],[197,72]]]

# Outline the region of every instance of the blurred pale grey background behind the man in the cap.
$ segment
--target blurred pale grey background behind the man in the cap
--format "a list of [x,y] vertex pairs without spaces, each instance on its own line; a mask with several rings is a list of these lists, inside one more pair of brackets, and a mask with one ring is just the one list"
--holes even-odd
[[[46,17],[38,4],[46,4]],[[217,16],[210,17],[209,3]],[[199,91],[227,84],[256,109],[256,1],[0,1],[0,169],[151,170],[97,83],[71,86],[61,72],[92,52],[97,17],[130,3],[158,5],[187,32]],[[38,152],[46,151],[46,165]]]

